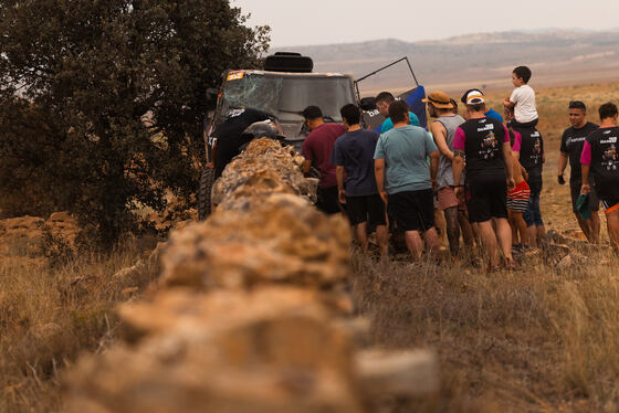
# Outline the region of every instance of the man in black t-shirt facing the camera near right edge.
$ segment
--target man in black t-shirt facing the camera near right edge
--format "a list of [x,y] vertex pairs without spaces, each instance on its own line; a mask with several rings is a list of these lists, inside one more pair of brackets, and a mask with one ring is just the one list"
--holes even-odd
[[[599,221],[599,200],[595,188],[589,193],[589,208],[591,209],[591,218],[584,221],[576,208],[576,201],[580,194],[583,187],[583,178],[580,172],[580,156],[583,155],[583,146],[587,136],[597,130],[598,125],[587,121],[587,106],[580,100],[569,103],[569,123],[571,127],[565,129],[562,137],[559,151],[559,173],[557,180],[559,184],[565,184],[563,177],[567,162],[569,160],[569,188],[571,193],[571,210],[576,215],[578,225],[591,243],[599,241],[600,221]],[[589,183],[594,183],[592,177],[589,176]]]

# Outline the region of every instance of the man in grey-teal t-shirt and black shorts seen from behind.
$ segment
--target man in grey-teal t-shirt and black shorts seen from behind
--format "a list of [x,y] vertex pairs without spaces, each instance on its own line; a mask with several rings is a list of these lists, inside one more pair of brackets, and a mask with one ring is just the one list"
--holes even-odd
[[394,102],[389,106],[389,116],[394,120],[394,129],[380,135],[374,153],[378,192],[389,204],[396,224],[405,232],[413,258],[421,257],[421,234],[427,248],[437,257],[439,239],[434,229],[432,195],[439,167],[437,145],[426,129],[408,125],[408,105],[405,102]]

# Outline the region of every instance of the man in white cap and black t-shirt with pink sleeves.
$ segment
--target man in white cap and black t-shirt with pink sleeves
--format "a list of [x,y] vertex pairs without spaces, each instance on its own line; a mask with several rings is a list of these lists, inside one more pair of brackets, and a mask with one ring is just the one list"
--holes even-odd
[[[512,148],[505,126],[486,117],[485,99],[480,91],[466,95],[469,120],[455,129],[453,139],[453,182],[457,194],[466,159],[466,177],[471,189],[468,202],[469,220],[478,223],[482,245],[489,255],[489,271],[499,268],[497,243],[507,267],[515,265],[512,257],[512,230],[507,222],[507,189],[515,187],[512,172]],[[496,226],[496,235],[493,229]]]

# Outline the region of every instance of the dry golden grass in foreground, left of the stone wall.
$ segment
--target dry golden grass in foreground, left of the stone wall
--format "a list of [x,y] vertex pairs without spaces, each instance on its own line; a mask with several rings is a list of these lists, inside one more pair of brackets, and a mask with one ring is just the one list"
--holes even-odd
[[55,269],[19,254],[0,261],[0,412],[62,411],[62,370],[81,351],[101,351],[114,339],[113,308],[129,297],[125,288],[144,287],[155,275],[147,267],[113,277],[135,264],[138,244],[105,257],[82,255]]

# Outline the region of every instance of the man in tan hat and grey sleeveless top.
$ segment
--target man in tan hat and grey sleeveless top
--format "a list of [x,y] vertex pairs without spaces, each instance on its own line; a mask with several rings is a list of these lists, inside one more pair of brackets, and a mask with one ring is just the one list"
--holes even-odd
[[460,227],[464,244],[471,245],[473,242],[473,231],[466,218],[466,205],[463,199],[455,197],[454,188],[464,183],[453,182],[453,136],[455,128],[464,123],[460,115],[452,113],[453,104],[449,96],[443,92],[432,92],[428,98],[423,99],[428,104],[430,116],[436,120],[430,125],[430,131],[434,137],[440,152],[439,171],[437,173],[437,186],[439,189],[439,209],[443,211],[447,222],[447,236],[449,250],[452,256],[458,256],[460,252]]

